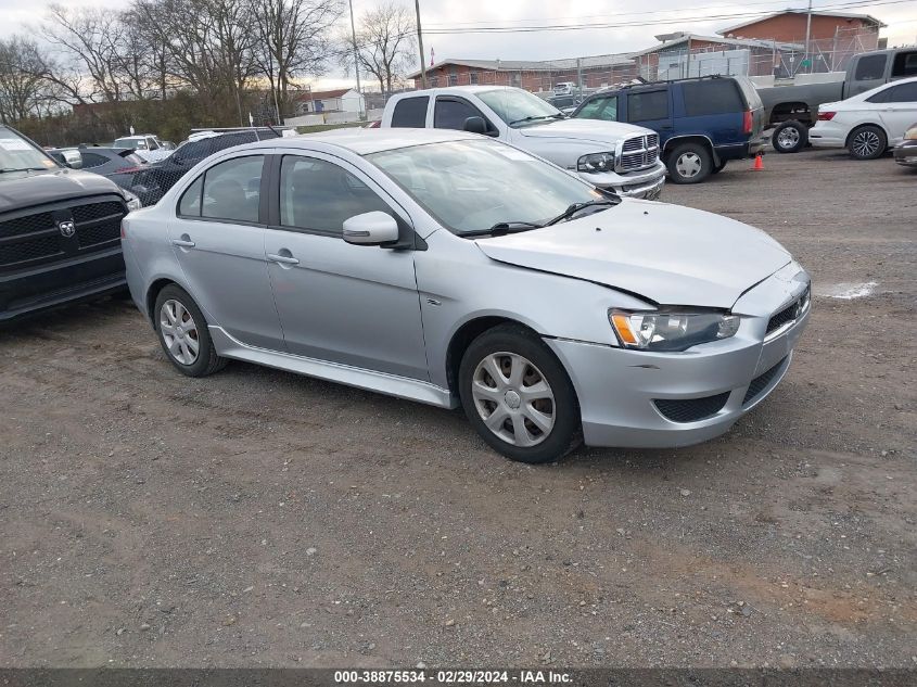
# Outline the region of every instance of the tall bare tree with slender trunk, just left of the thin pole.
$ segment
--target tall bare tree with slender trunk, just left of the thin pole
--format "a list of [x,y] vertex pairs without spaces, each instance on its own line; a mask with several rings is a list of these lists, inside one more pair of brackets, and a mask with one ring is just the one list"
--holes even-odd
[[255,63],[270,85],[280,124],[294,79],[323,73],[331,52],[331,26],[342,0],[251,0],[257,28]]

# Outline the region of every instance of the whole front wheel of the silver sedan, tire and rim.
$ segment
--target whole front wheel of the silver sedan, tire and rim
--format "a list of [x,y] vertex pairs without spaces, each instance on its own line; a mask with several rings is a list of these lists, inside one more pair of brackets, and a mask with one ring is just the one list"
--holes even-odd
[[458,384],[472,427],[507,458],[549,462],[582,442],[580,405],[566,371],[522,327],[501,325],[472,341]]

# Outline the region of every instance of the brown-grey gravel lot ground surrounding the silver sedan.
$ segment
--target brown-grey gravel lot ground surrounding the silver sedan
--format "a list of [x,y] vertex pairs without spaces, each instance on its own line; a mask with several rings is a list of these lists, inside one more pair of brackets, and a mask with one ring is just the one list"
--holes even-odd
[[0,331],[0,663],[917,666],[917,174],[772,154],[664,200],[816,293],[770,398],[677,451],[531,468],[459,411],[189,380],[124,301]]

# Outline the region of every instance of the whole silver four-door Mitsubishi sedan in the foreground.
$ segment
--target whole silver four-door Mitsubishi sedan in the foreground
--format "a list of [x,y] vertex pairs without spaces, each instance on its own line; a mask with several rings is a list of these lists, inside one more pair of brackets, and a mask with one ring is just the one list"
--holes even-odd
[[234,358],[461,405],[526,462],[722,434],[780,382],[810,314],[808,275],[764,232],[457,131],[232,148],[123,237],[180,372]]

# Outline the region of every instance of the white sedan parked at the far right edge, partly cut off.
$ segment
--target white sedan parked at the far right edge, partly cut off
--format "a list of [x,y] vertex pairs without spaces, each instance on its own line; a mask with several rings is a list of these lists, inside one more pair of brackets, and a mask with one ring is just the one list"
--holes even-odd
[[874,160],[900,143],[915,119],[917,77],[912,77],[820,105],[808,140],[815,148],[846,148],[856,160]]

